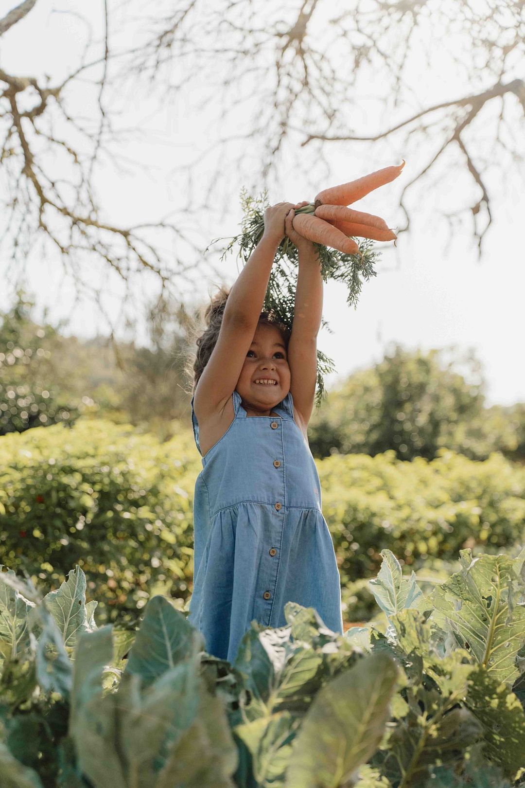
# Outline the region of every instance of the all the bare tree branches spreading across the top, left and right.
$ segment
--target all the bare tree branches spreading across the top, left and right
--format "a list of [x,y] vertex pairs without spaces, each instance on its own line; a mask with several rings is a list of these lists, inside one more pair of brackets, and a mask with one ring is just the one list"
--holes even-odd
[[[25,0],[7,13],[0,35],[34,6]],[[212,205],[230,210],[242,185],[279,189],[284,165],[301,168],[318,190],[334,177],[329,149],[344,141],[362,158],[395,150],[420,162],[401,191],[401,232],[410,226],[409,195],[453,157],[472,184],[460,214],[473,221],[481,254],[495,215],[487,169],[497,162],[505,177],[505,167],[523,162],[523,0],[356,0],[351,8],[327,0],[104,0],[102,30],[99,41],[89,30],[79,61],[59,80],[14,73],[5,59],[0,69],[3,257],[21,269],[41,241],[82,296],[92,291],[92,266],[126,292],[139,273],[161,292],[190,288],[197,267],[220,278],[203,259],[209,239],[194,243],[181,217],[120,226],[103,214],[98,173],[128,165],[119,143],[139,137],[115,128],[115,95],[127,80],[134,95],[145,87],[164,102],[184,93],[193,117],[215,113],[205,150],[171,173],[187,198],[184,220],[200,225]],[[134,46],[121,46],[122,37],[116,45],[123,32]],[[430,76],[445,66],[457,76],[455,98],[424,90],[423,65]],[[93,102],[80,117],[70,98],[86,82]],[[372,128],[369,105],[379,118]],[[489,143],[491,162],[480,152]]]

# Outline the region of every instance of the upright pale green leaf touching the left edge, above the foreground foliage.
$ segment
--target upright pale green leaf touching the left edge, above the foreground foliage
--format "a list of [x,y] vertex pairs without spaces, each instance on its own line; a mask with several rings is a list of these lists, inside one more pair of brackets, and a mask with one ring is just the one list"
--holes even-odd
[[24,599],[18,589],[8,583],[16,574],[2,572],[0,564],[0,663],[14,660],[29,645],[28,612],[34,604]]

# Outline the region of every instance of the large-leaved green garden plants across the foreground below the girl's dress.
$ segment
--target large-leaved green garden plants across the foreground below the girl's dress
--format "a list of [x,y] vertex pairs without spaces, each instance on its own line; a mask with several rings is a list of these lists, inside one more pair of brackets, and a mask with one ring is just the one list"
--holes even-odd
[[523,788],[525,550],[463,550],[427,596],[382,558],[386,632],[290,601],[233,664],[164,597],[97,628],[79,567],[43,598],[0,573],[0,784]]

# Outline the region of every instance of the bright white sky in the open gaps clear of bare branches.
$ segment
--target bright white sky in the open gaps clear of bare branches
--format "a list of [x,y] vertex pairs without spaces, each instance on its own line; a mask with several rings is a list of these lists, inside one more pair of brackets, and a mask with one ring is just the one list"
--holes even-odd
[[[2,2],[0,13],[6,13],[15,5],[15,2]],[[67,3],[63,0],[39,0],[28,17],[2,38],[2,68],[17,75],[41,76],[48,73],[58,76],[65,73],[65,69],[74,67],[78,63],[76,52],[83,40],[83,28],[74,17],[57,13],[66,7],[79,9],[84,17],[89,17],[95,30],[100,29],[102,2],[93,3],[87,9],[85,3],[76,0]],[[131,43],[129,40],[128,46]],[[411,69],[419,79],[418,63],[412,62]],[[451,99],[460,91],[460,76],[453,72],[445,59],[442,63],[435,63],[432,71],[424,72],[424,76],[427,93],[434,90],[438,99]],[[183,207],[183,188],[170,173],[176,165],[198,160],[216,132],[216,106],[213,102],[209,102],[200,113],[192,107],[194,91],[198,91],[195,86],[193,83],[191,95],[179,95],[173,105],[152,100],[144,91],[141,95],[126,97],[125,111],[118,125],[120,128],[142,128],[148,133],[142,141],[120,145],[119,153],[130,160],[127,172],[118,172],[108,163],[98,175],[98,195],[105,220],[122,224],[158,221],[168,212]],[[372,86],[373,95],[378,92],[375,87],[378,86]],[[204,84],[201,90],[205,95]],[[356,101],[360,110],[356,128],[368,133],[384,128],[385,123],[380,108],[373,106],[369,98]],[[68,101],[71,110],[81,111],[84,105],[89,106],[89,94],[82,95],[79,90]],[[412,110],[413,107],[406,113]],[[401,117],[406,113],[401,113]],[[239,118],[232,116],[231,128],[221,128],[222,134],[226,136],[228,131],[235,133],[235,123],[238,122]],[[300,142],[301,136],[298,136],[292,144]],[[427,144],[431,143],[431,140],[427,141]],[[315,182],[312,183],[315,170],[308,163],[304,172],[292,171],[286,169],[285,158],[283,169],[279,171],[279,184],[270,191],[270,202],[312,199],[320,188],[351,180],[405,158],[407,165],[399,182],[369,195],[358,206],[360,210],[386,217],[389,225],[401,225],[403,217],[396,207],[403,185],[401,178],[406,176],[406,182],[412,177],[417,165],[423,161],[425,151],[421,150],[421,142],[412,150],[398,149],[397,144],[394,141],[386,145],[383,143],[375,149],[378,158],[372,158],[369,148],[364,155],[364,149],[353,143],[333,143],[333,147],[326,148],[331,172],[328,176],[323,173],[324,180],[318,183],[317,188]],[[307,161],[308,147],[303,151]],[[238,191],[243,183],[248,188],[252,184],[246,183],[246,172],[239,173],[235,169],[235,153],[232,147],[231,153],[224,155],[223,159],[225,170],[231,166],[228,200],[231,206],[226,210],[221,206],[220,210],[210,211],[202,217],[202,225],[197,226],[197,232],[203,246],[213,238],[238,232]],[[230,161],[228,155],[231,156]],[[440,208],[449,206],[454,210],[457,206],[474,202],[472,195],[477,199],[477,190],[471,187],[468,177],[457,176],[459,156],[456,161],[451,156],[436,173],[443,179],[439,186],[431,188],[427,182],[427,186],[420,187],[419,193],[413,193],[411,232],[401,234],[397,249],[394,250],[391,244],[385,245],[380,273],[374,281],[364,285],[356,311],[346,306],[346,291],[341,285],[330,283],[325,286],[324,317],[334,333],[321,331],[318,344],[335,360],[338,370],[337,376],[328,379],[328,386],[338,376],[346,376],[357,368],[379,361],[390,341],[400,342],[407,348],[442,348],[457,344],[465,351],[475,348],[481,358],[490,403],[510,404],[525,400],[525,271],[521,239],[523,221],[519,221],[525,214],[523,180],[517,168],[508,168],[504,177],[497,168],[490,171],[487,181],[495,196],[494,223],[486,236],[485,250],[479,261],[467,222],[447,245],[447,227],[436,217]],[[137,165],[132,162],[137,162]],[[213,165],[216,162],[209,157],[201,158],[195,165],[194,174],[203,190],[208,187]],[[257,166],[253,167],[252,177],[257,184]],[[0,184],[3,188],[2,181]],[[195,232],[195,222],[192,226]],[[5,260],[0,261],[0,266],[5,265]],[[35,288],[39,307],[50,307],[49,316],[53,320],[68,315],[71,318],[69,333],[93,336],[107,331],[95,307],[90,309],[84,304],[82,308],[72,310],[71,288],[58,284],[61,267],[56,257],[50,255],[43,260],[40,250],[35,250],[28,270],[28,285]],[[231,256],[224,264],[224,280],[231,284],[236,272],[236,262]],[[118,288],[116,283],[109,284],[108,288],[107,306],[116,314],[120,297]],[[213,283],[196,279],[196,295],[206,298],[211,289]],[[9,307],[6,292],[0,292],[0,307]]]

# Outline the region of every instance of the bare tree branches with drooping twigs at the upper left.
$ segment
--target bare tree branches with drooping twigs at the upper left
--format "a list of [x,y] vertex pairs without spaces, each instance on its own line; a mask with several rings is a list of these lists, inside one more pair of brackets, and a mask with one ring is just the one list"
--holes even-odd
[[[27,2],[14,9],[17,15],[12,12],[2,22],[5,29],[8,21],[10,27],[29,10]],[[109,21],[105,0],[104,37],[99,46],[102,57],[87,57],[97,48],[90,37],[80,65],[56,84],[50,84],[49,78],[9,73],[5,64],[0,69],[0,165],[7,184],[3,201],[6,222],[2,223],[0,243],[10,246],[10,267],[20,280],[35,240],[46,240],[65,277],[74,281],[77,294],[84,297],[89,293],[101,311],[101,294],[97,295],[91,284],[90,260],[107,266],[124,284],[147,273],[157,281],[161,294],[180,295],[184,287],[194,287],[195,261],[201,262],[205,248],[205,239],[197,245],[169,217],[128,226],[102,218],[94,189],[97,172],[109,162],[119,162],[118,152],[111,151],[109,145],[124,141],[129,133],[115,131],[111,99],[105,101],[113,60]],[[120,56],[118,53],[115,58]],[[100,76],[93,79],[93,73]],[[91,117],[73,117],[68,111],[76,80],[84,76],[91,76],[96,91],[96,128]],[[139,136],[135,130],[132,133]],[[66,173],[65,177],[59,177],[59,172]],[[187,251],[185,256],[176,254],[181,243],[190,250],[189,256]],[[209,270],[218,275],[213,266],[209,265]],[[9,267],[6,273],[9,278]]]

